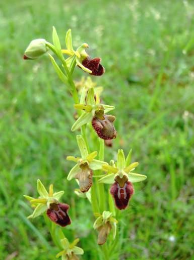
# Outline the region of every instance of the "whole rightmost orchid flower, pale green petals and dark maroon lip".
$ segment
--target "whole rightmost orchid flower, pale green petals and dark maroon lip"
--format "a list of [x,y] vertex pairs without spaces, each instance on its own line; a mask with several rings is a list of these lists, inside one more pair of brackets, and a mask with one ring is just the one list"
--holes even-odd
[[118,209],[127,207],[128,201],[134,193],[132,183],[141,182],[147,178],[145,175],[132,172],[139,163],[133,162],[130,164],[131,153],[132,150],[125,160],[123,150],[118,150],[116,165],[103,165],[102,168],[107,171],[107,174],[98,180],[99,183],[112,184],[110,193]]

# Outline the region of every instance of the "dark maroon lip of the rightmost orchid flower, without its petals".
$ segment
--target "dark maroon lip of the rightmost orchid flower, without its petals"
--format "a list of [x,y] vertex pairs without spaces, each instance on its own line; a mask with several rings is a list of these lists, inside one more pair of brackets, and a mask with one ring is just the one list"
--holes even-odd
[[123,187],[120,187],[117,182],[110,187],[110,193],[114,199],[115,205],[118,209],[125,209],[128,201],[134,193],[134,187],[131,182],[125,182]]

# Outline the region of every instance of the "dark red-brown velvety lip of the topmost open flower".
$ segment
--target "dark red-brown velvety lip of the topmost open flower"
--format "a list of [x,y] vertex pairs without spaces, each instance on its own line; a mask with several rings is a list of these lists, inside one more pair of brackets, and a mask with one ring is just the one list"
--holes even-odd
[[100,61],[100,58],[91,59],[90,57],[87,57],[82,61],[82,64],[84,65],[84,67],[92,71],[90,75],[101,76],[104,73],[105,69],[100,64]]

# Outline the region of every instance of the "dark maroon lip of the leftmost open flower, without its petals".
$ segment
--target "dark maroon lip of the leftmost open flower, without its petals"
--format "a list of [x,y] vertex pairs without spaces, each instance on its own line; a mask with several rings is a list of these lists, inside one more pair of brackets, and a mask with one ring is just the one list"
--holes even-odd
[[64,203],[51,203],[50,208],[47,209],[46,214],[48,218],[60,225],[61,227],[66,227],[71,224],[71,219],[67,213],[70,206]]

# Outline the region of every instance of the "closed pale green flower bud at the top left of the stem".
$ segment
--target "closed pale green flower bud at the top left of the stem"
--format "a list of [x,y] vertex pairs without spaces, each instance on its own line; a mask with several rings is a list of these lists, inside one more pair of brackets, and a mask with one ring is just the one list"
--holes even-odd
[[34,60],[48,51],[45,39],[32,40],[24,53],[24,60]]

